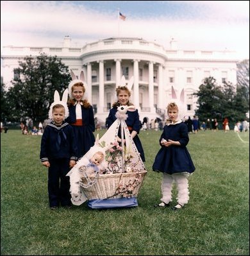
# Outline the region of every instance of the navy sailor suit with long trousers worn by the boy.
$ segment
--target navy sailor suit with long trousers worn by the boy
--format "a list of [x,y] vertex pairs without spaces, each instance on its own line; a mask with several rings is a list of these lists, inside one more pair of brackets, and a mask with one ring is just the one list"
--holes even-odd
[[77,146],[72,127],[63,121],[56,126],[53,121],[47,124],[41,140],[40,160],[49,161],[48,192],[49,206],[71,205],[69,162],[78,160]]

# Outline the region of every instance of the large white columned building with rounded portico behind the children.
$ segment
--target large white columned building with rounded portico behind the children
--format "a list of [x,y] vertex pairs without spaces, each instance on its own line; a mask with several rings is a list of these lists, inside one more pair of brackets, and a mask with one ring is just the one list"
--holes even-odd
[[[134,76],[131,101],[138,108],[140,119],[162,117],[171,99],[171,88],[177,94],[185,91],[187,115],[194,115],[197,91],[203,79],[213,76],[218,83],[237,83],[237,58],[231,51],[179,50],[172,39],[169,49],[142,38],[113,37],[72,47],[66,36],[62,47],[3,47],[3,82],[10,86],[14,69],[25,56],[40,53],[56,55],[79,75],[83,70],[87,81],[88,100],[95,116],[105,121],[116,100],[115,87],[121,76]],[[67,85],[65,85],[67,87]]]

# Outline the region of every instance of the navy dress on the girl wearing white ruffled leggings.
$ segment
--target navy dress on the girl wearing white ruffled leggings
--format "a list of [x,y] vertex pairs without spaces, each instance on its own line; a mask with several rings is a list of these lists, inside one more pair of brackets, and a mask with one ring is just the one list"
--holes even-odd
[[162,148],[155,157],[153,171],[168,173],[169,175],[183,172],[193,173],[196,167],[194,167],[186,147],[189,141],[187,125],[183,122],[165,125],[159,142],[162,139],[179,141],[181,145],[166,147],[160,144]]

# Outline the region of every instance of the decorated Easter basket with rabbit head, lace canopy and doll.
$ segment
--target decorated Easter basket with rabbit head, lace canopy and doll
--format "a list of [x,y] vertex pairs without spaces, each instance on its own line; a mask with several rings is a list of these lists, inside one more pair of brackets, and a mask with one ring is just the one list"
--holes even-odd
[[[126,86],[124,76],[121,85]],[[133,78],[128,87],[132,85]],[[74,205],[86,200],[89,200],[88,207],[95,209],[138,205],[136,197],[147,171],[125,123],[126,113],[135,110],[135,106],[118,107],[115,122],[101,139],[97,134],[94,146],[67,174]],[[117,141],[119,132],[121,142]],[[131,203],[129,198],[136,203]]]

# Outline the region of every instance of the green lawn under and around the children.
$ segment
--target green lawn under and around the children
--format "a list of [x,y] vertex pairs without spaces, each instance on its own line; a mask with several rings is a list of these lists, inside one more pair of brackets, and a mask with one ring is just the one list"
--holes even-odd
[[242,140],[233,131],[190,134],[196,171],[179,211],[153,207],[162,181],[151,171],[160,134],[140,132],[148,173],[138,207],[84,203],[52,212],[41,137],[1,133],[1,255],[249,255],[249,133]]

